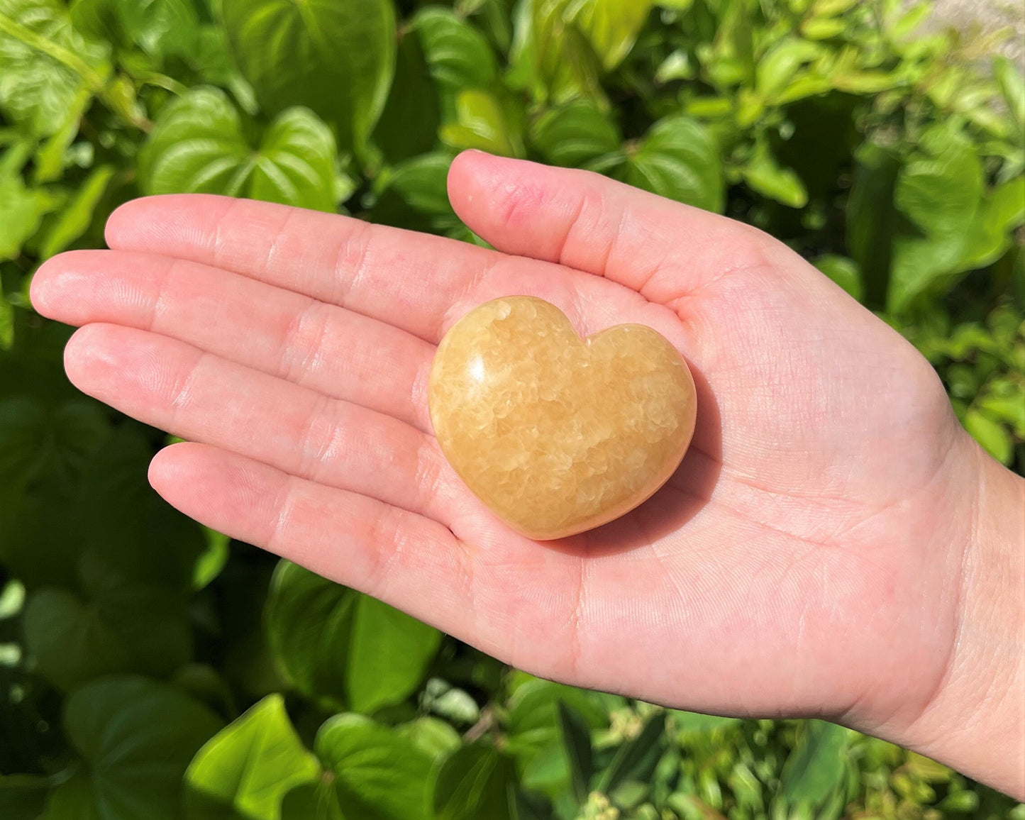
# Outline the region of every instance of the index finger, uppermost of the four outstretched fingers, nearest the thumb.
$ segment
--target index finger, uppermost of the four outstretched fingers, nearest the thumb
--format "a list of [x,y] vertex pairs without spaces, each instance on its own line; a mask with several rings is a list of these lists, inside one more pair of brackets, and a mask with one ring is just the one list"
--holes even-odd
[[433,342],[453,302],[502,259],[465,242],[209,195],[126,203],[108,220],[107,242],[235,271]]

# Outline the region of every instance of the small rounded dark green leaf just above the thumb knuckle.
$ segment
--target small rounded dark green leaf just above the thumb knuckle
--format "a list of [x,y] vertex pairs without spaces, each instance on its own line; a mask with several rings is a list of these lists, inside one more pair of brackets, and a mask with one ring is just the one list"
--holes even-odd
[[531,128],[531,142],[546,162],[576,168],[619,151],[622,136],[607,114],[580,99],[541,115]]

